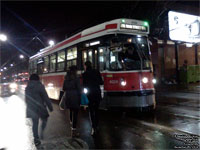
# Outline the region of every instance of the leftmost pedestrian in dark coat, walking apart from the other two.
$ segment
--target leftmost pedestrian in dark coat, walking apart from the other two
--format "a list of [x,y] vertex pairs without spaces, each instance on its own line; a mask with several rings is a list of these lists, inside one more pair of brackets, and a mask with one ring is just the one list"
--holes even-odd
[[29,78],[29,82],[25,89],[25,102],[27,106],[26,117],[32,119],[34,143],[36,146],[38,146],[41,144],[38,135],[39,119],[42,120],[41,138],[43,138],[43,131],[47,125],[47,120],[49,117],[47,107],[51,112],[53,111],[53,107],[45,87],[40,82],[40,78],[37,74],[32,74]]

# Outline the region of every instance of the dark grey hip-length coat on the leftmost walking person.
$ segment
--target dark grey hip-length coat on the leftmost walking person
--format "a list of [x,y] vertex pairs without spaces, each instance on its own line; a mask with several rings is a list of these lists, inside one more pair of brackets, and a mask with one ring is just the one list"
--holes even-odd
[[28,118],[47,118],[53,111],[51,101],[47,95],[44,85],[40,81],[31,80],[25,89],[25,101],[27,105],[26,115]]

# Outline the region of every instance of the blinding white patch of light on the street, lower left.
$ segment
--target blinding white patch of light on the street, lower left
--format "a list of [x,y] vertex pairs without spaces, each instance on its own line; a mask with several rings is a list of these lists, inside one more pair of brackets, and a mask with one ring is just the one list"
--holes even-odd
[[32,130],[27,124],[25,110],[26,105],[18,96],[9,97],[6,103],[0,98],[0,149],[36,149],[32,144]]

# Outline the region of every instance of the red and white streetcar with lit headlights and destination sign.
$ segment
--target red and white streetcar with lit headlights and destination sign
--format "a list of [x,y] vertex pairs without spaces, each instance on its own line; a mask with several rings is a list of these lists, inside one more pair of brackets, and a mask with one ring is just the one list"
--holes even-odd
[[66,70],[76,65],[81,76],[89,60],[104,80],[103,107],[155,109],[148,34],[145,21],[107,21],[40,50],[30,57],[29,72],[38,73],[49,97],[58,100]]

